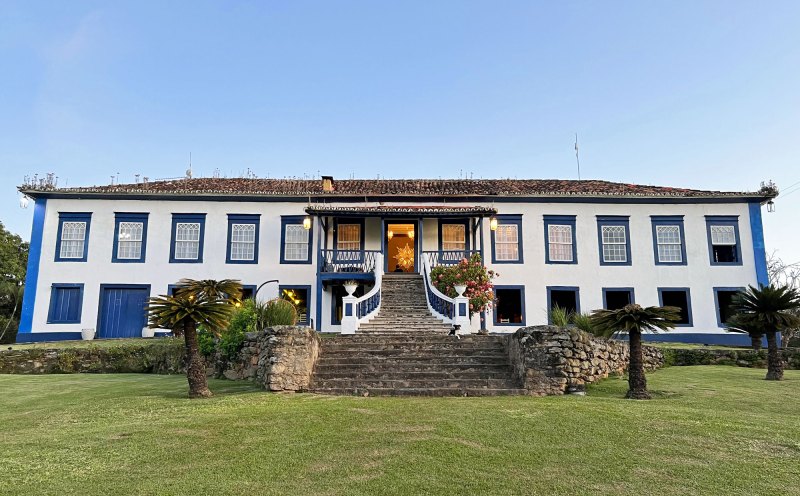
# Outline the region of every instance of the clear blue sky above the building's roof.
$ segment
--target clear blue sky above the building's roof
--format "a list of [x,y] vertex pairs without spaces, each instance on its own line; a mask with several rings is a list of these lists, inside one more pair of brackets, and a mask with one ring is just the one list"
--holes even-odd
[[[800,181],[800,2],[0,4],[15,185],[120,173]],[[800,260],[800,193],[765,214]]]

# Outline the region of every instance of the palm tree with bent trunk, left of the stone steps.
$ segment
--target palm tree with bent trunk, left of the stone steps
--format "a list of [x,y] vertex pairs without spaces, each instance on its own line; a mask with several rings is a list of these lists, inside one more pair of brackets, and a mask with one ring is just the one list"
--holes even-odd
[[238,281],[193,281],[183,279],[172,296],[150,298],[147,312],[150,327],[183,329],[186,346],[186,378],[190,398],[211,396],[203,358],[197,344],[197,326],[218,334],[230,322],[233,309],[241,303],[242,286]]

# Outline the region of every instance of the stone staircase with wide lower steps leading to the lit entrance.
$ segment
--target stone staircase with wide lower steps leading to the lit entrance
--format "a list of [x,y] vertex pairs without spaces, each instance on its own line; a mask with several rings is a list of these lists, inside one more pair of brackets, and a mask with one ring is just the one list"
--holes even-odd
[[355,335],[323,337],[310,390],[363,396],[525,394],[503,336],[448,336],[425,303],[422,276],[387,274],[381,310]]

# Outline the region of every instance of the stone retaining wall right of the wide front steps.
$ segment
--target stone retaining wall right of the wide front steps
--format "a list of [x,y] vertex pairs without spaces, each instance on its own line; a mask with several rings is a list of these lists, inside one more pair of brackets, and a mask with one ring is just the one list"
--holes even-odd
[[[645,369],[664,365],[658,348],[644,346]],[[530,394],[564,394],[582,389],[628,366],[628,343],[595,338],[575,328],[524,327],[508,337],[508,353],[515,376]]]

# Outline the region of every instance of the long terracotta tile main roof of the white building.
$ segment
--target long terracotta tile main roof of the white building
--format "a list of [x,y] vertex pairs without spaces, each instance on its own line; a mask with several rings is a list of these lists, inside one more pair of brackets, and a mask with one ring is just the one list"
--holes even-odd
[[21,186],[31,196],[48,193],[90,197],[94,194],[120,196],[583,196],[700,198],[755,197],[747,192],[704,191],[665,186],[614,183],[599,180],[563,179],[334,179],[333,190],[325,192],[319,179],[194,178],[70,188]]

